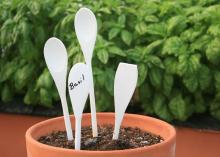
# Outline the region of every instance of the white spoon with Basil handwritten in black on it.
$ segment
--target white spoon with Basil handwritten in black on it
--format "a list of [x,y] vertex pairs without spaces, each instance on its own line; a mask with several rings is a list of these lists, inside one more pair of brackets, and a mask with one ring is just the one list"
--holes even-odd
[[80,150],[82,113],[89,94],[87,75],[87,66],[83,63],[77,63],[71,68],[68,78],[68,89],[75,116],[76,150]]

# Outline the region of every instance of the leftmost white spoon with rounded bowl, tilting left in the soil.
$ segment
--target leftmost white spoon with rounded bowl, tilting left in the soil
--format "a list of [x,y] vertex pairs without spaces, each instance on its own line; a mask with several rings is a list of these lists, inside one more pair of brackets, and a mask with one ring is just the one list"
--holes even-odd
[[60,95],[67,138],[68,140],[73,140],[72,127],[66,101],[68,57],[64,44],[54,37],[48,39],[44,46],[44,58]]

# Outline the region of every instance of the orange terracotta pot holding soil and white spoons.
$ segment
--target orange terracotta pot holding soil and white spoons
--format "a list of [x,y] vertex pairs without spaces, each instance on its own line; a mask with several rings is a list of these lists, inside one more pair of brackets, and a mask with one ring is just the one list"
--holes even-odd
[[[114,124],[114,113],[97,113],[99,125]],[[71,117],[74,128],[74,117]],[[84,114],[82,126],[90,126],[90,114]],[[161,120],[135,115],[125,114],[123,126],[138,127],[161,135],[165,140],[159,144],[148,147],[114,150],[114,151],[76,151],[71,149],[57,148],[39,143],[37,139],[54,130],[64,130],[63,117],[49,119],[40,122],[26,132],[26,147],[28,157],[174,157],[176,145],[176,131],[166,122]]]

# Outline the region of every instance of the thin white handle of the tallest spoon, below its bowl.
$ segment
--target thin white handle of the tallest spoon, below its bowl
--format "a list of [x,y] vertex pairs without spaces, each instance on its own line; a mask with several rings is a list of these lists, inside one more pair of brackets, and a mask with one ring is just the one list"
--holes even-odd
[[97,130],[97,120],[96,120],[96,106],[95,106],[95,92],[94,92],[94,83],[92,75],[92,66],[88,65],[89,76],[90,76],[90,85],[89,85],[89,100],[90,100],[90,109],[91,109],[91,120],[92,120],[92,134],[93,137],[98,136]]

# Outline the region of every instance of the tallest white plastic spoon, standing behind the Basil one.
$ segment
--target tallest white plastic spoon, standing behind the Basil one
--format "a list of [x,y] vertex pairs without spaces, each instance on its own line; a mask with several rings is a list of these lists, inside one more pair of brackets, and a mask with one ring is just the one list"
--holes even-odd
[[86,64],[89,70],[89,98],[92,115],[92,133],[93,137],[98,136],[97,121],[96,121],[96,106],[94,83],[92,74],[92,54],[95,46],[97,35],[97,21],[93,12],[87,8],[81,8],[75,15],[75,31],[79,40],[80,47],[85,57]]

